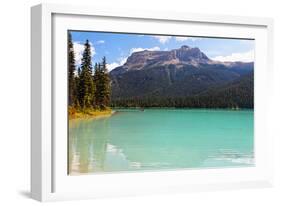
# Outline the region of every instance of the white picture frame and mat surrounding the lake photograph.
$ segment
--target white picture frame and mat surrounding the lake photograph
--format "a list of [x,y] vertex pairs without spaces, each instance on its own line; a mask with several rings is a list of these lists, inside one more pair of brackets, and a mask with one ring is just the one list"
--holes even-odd
[[[206,36],[254,37],[255,158],[253,168],[192,169],[119,174],[67,175],[66,53],[68,29],[183,35],[184,25],[200,25]],[[116,22],[118,21],[118,27]],[[138,24],[138,28],[134,25]],[[153,27],[157,24],[157,31]],[[163,29],[174,26],[174,33]],[[147,26],[145,26],[147,25]],[[270,187],[273,185],[273,136],[267,115],[273,77],[273,21],[269,18],[114,10],[58,4],[31,9],[31,196],[39,201]],[[99,26],[98,26],[99,27]],[[111,28],[109,28],[111,27]],[[206,29],[206,28],[208,29]],[[201,29],[202,28],[202,29]],[[204,29],[205,28],[205,29]],[[154,28],[155,29],[155,28]],[[65,67],[63,69],[57,69]],[[257,68],[257,70],[256,70]],[[260,69],[259,69],[260,68]],[[266,68],[266,69],[262,69]],[[257,71],[257,72],[256,72]],[[65,92],[64,92],[65,91]],[[60,137],[60,138],[58,138]],[[257,141],[256,141],[257,140]],[[92,184],[95,183],[95,184]],[[95,185],[98,185],[96,187]]]

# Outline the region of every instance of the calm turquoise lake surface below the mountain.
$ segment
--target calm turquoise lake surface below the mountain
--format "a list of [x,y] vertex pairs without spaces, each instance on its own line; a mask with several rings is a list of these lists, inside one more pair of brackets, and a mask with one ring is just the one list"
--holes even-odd
[[253,110],[120,109],[69,122],[69,173],[254,165]]

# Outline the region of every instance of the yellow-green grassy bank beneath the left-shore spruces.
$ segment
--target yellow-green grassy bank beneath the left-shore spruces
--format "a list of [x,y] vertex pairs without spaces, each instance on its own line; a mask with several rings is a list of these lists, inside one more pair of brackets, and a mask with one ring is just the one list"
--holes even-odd
[[99,118],[99,117],[107,117],[114,113],[114,111],[110,108],[106,108],[104,110],[98,109],[75,109],[73,107],[68,107],[68,116],[69,119],[89,119],[89,118]]

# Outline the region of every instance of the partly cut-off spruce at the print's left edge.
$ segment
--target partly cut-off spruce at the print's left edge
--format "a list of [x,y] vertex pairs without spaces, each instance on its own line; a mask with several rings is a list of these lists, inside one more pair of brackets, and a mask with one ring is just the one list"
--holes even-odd
[[71,33],[68,33],[68,105],[74,106],[76,102],[75,84],[75,56]]

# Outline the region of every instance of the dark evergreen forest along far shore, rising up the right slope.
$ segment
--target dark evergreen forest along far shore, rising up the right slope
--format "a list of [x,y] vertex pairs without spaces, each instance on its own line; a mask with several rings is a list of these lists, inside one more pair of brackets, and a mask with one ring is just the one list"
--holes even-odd
[[175,108],[254,108],[254,74],[242,76],[225,85],[186,97],[140,97],[112,99],[112,107],[175,107]]

